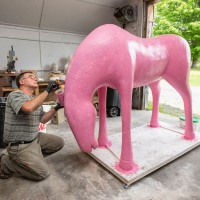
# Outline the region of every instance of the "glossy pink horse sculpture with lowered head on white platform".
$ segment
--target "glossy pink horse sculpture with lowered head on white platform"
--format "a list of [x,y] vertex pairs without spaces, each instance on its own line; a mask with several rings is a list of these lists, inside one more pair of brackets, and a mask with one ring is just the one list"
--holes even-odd
[[[84,152],[111,145],[106,128],[106,87],[119,91],[122,108],[122,149],[118,169],[136,171],[131,145],[132,89],[149,85],[153,94],[150,126],[159,127],[158,106],[161,79],[165,79],[184,101],[184,138],[195,138],[189,88],[190,49],[177,35],[138,38],[115,25],[92,31],[76,50],[65,82],[65,114]],[[99,136],[94,136],[96,110],[94,92],[99,96]]]

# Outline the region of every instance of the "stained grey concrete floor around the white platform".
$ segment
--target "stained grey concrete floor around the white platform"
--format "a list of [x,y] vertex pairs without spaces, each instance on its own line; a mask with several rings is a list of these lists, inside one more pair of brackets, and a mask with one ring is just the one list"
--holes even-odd
[[[132,127],[148,123],[150,116],[150,111],[133,110]],[[163,114],[159,119],[179,123]],[[109,134],[121,132],[120,120],[108,118]],[[50,177],[41,182],[17,176],[0,180],[0,200],[200,200],[200,147],[125,189],[123,182],[79,150],[67,122],[48,124],[47,131],[65,139],[64,148],[46,158]]]

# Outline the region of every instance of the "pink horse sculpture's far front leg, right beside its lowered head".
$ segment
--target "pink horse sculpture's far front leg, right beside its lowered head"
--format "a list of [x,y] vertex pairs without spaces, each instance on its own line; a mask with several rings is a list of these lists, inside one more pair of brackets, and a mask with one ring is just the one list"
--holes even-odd
[[107,127],[106,127],[106,87],[98,89],[99,98],[99,147],[111,146],[108,140]]

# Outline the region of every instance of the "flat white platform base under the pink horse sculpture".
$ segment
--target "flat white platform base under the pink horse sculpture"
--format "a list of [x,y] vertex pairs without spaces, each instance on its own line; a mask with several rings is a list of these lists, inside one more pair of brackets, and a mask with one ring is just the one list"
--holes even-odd
[[187,141],[182,139],[183,129],[164,122],[160,125],[160,128],[143,125],[132,129],[134,161],[139,167],[134,174],[126,175],[114,168],[121,155],[121,133],[109,136],[112,142],[109,149],[98,148],[90,155],[129,186],[200,145],[200,133],[196,133],[195,140]]

